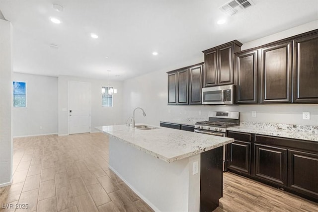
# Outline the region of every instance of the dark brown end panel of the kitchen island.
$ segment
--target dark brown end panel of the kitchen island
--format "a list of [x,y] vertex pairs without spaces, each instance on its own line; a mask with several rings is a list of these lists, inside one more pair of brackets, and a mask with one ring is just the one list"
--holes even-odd
[[211,212],[223,196],[223,146],[201,153],[200,178],[200,212]]

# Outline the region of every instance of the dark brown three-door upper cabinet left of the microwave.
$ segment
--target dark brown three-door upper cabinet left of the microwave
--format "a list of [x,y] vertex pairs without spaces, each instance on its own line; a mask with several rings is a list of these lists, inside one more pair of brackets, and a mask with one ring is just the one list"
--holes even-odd
[[167,72],[168,104],[201,104],[203,63]]

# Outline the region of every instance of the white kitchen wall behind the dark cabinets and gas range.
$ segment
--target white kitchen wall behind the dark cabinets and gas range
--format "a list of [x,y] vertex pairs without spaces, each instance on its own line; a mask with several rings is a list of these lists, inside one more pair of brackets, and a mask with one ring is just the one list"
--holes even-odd
[[[243,44],[242,50],[257,47],[268,42],[280,40],[318,28],[318,20],[280,32],[265,38]],[[210,48],[210,47],[207,47]],[[193,64],[203,62],[197,59]],[[257,121],[285,123],[298,125],[318,125],[317,104],[288,104],[288,105],[233,105],[233,106],[171,106],[167,105],[167,74],[166,71],[193,65],[185,62],[169,70],[151,72],[124,81],[124,120],[132,115],[135,107],[142,107],[147,116],[143,117],[136,111],[136,123],[159,125],[160,120],[188,117],[208,117],[209,110],[239,111],[241,121]],[[154,68],[155,69],[155,68]],[[251,117],[251,111],[257,112],[257,117]],[[311,119],[303,120],[302,112],[310,112]],[[201,113],[201,115],[200,115]]]

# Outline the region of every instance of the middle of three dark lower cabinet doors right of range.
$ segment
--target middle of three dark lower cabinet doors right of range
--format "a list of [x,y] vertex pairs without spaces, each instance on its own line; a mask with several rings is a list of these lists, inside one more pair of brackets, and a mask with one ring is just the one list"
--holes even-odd
[[254,145],[255,177],[287,186],[287,149]]

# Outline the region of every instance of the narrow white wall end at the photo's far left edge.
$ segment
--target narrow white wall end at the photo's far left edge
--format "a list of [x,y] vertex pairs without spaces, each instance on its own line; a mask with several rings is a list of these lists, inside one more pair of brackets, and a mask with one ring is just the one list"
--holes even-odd
[[12,180],[12,31],[0,19],[0,187]]

